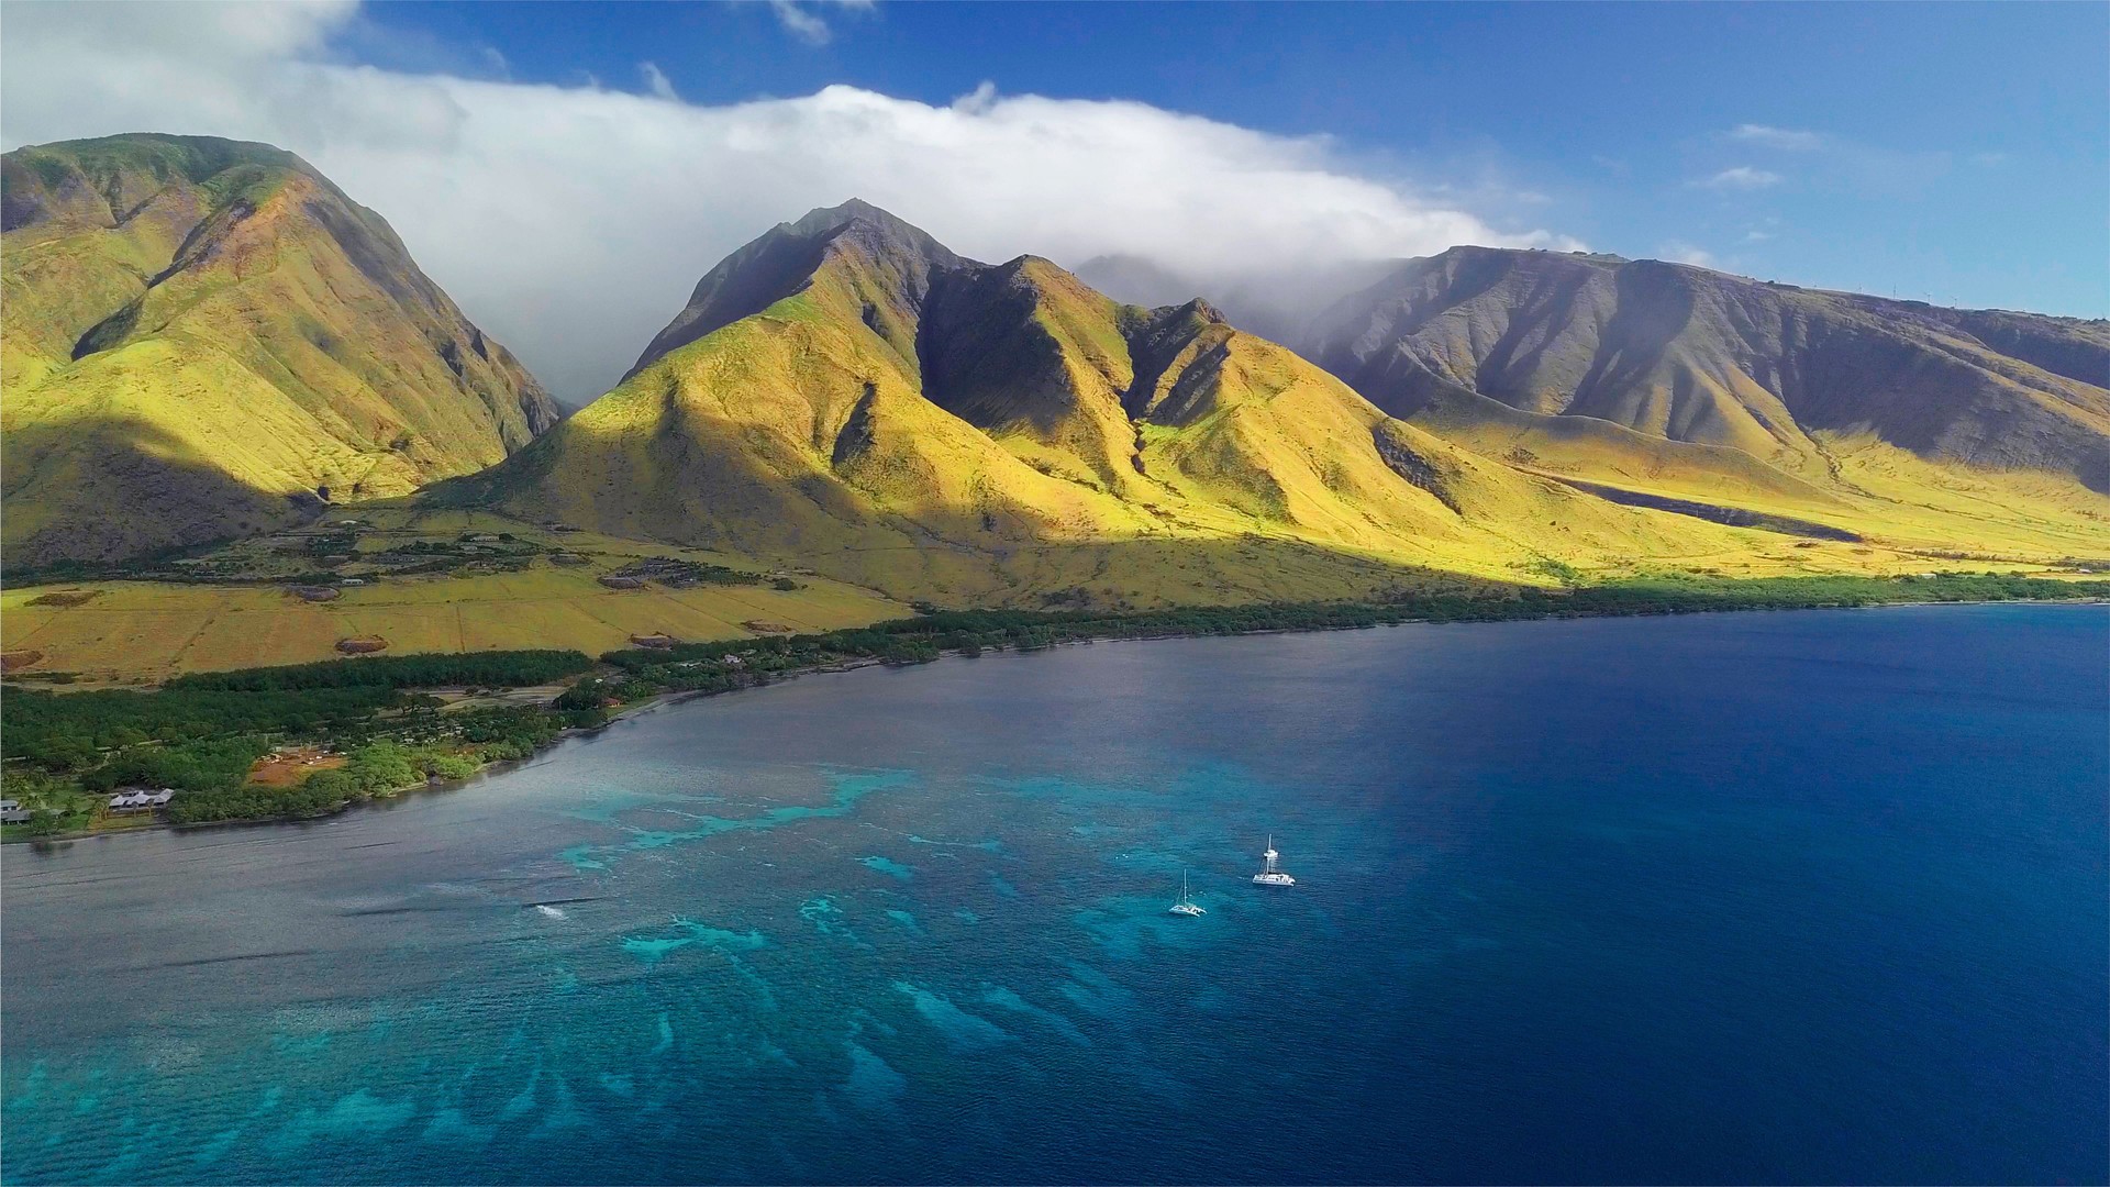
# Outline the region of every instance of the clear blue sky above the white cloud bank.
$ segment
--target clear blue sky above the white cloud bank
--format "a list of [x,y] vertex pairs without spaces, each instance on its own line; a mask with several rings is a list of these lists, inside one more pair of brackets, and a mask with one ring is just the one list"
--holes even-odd
[[[848,82],[1338,139],[1498,226],[1800,283],[2110,315],[2106,4],[378,4],[346,53],[690,103]],[[1739,135],[1739,129],[1745,129]],[[1760,131],[1770,129],[1770,131]]]

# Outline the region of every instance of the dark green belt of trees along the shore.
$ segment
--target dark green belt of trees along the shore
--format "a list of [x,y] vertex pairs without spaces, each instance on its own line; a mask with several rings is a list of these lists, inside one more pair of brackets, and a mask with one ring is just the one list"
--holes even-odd
[[[51,839],[143,824],[110,811],[127,788],[177,794],[173,826],[310,819],[492,762],[528,758],[565,731],[675,693],[726,693],[852,663],[1038,651],[1066,642],[1353,629],[1393,623],[1787,610],[1905,602],[2110,600],[2110,581],[2007,574],[1910,579],[1625,581],[1574,589],[1409,594],[1388,602],[1104,610],[941,610],[827,634],[610,651],[363,657],[179,676],[158,691],[53,693],[11,684],[0,792],[25,822],[0,836]],[[521,697],[519,689],[546,689]],[[447,691],[447,697],[435,695]],[[260,779],[272,758],[291,777]]]

